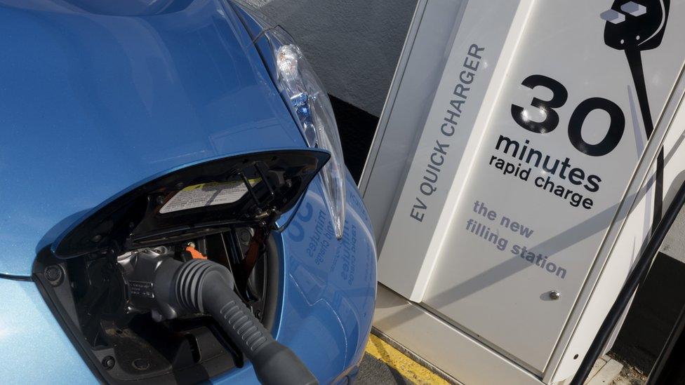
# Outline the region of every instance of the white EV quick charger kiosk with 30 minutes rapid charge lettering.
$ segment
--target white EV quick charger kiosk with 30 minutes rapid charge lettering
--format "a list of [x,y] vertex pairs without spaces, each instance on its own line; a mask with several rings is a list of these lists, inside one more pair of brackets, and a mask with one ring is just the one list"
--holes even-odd
[[419,1],[360,183],[375,327],[465,384],[573,376],[685,179],[685,1]]

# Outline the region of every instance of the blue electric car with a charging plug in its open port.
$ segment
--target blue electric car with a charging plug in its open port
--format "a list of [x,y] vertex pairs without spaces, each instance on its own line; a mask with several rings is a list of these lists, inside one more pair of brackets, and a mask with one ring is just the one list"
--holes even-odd
[[227,0],[0,0],[0,383],[347,384],[376,252],[321,83]]

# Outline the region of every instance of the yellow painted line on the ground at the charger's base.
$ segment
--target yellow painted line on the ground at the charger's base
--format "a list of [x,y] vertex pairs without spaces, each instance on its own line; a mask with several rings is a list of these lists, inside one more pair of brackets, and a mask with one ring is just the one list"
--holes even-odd
[[431,372],[415,360],[408,358],[404,353],[394,349],[387,344],[387,342],[383,341],[383,339],[380,339],[375,335],[371,335],[368,339],[366,353],[383,361],[386,365],[397,370],[397,372],[406,377],[406,379],[413,381],[415,384],[449,384],[442,377]]

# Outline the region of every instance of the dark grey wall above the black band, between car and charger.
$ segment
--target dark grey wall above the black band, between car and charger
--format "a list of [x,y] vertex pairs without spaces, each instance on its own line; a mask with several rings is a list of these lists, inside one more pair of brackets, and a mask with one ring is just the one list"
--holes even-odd
[[284,27],[326,91],[380,116],[416,0],[241,0]]

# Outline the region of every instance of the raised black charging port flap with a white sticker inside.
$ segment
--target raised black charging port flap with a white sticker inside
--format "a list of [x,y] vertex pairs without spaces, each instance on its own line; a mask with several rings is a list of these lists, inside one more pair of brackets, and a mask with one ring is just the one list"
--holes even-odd
[[315,149],[266,151],[174,170],[93,209],[52,252],[60,258],[125,252],[215,234],[230,224],[274,221],[297,203],[329,157]]

